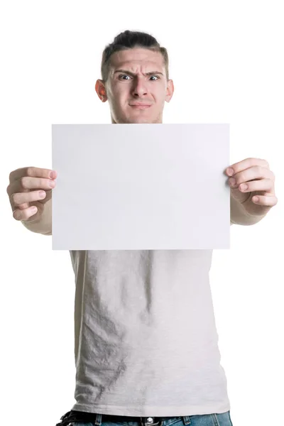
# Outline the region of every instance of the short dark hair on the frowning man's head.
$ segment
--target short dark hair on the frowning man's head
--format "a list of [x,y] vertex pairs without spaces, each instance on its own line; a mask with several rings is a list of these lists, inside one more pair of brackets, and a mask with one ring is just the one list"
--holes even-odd
[[169,79],[169,61],[167,49],[162,48],[158,41],[153,37],[153,35],[141,33],[140,31],[126,30],[123,33],[120,33],[119,35],[116,35],[114,41],[104,48],[104,52],[102,53],[101,64],[102,80],[104,80],[104,82],[107,81],[107,78],[109,76],[109,58],[111,57],[111,55],[113,55],[115,52],[119,52],[119,50],[133,49],[136,47],[146,48],[155,52],[160,52],[163,55],[167,80]]

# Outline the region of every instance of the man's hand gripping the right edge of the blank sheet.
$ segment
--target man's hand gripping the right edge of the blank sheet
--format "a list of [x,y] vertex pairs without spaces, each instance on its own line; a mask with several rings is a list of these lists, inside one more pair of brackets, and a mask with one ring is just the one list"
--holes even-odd
[[277,204],[275,175],[266,160],[246,158],[226,168],[226,175],[230,176],[231,196],[241,202],[249,214],[263,216]]

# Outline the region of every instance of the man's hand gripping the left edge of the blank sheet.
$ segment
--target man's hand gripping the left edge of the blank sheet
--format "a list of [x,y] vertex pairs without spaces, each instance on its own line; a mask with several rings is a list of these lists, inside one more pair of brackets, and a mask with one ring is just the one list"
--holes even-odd
[[[56,185],[55,178],[57,173],[49,169],[25,167],[13,170],[7,187],[13,218],[25,222],[40,219],[45,202],[52,197],[52,190]],[[53,186],[50,186],[50,183]],[[36,207],[35,212],[33,207]]]

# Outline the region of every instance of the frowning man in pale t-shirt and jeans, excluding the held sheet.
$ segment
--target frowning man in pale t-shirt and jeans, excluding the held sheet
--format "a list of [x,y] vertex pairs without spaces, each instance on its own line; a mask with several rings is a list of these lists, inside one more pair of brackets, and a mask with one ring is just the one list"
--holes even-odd
[[[167,50],[151,35],[124,31],[104,49],[95,89],[109,101],[112,124],[163,123],[164,103],[174,91]],[[231,176],[231,224],[256,224],[277,203],[266,160],[246,158],[225,173]],[[39,168],[11,173],[13,217],[27,229],[52,234],[48,183],[55,178]],[[70,256],[76,403],[58,425],[232,425],[209,287],[212,250]]]

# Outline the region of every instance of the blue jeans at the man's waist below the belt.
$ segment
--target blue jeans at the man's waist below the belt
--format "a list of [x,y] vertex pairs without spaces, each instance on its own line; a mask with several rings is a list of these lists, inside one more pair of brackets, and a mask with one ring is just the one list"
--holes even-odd
[[[151,423],[143,423],[143,425],[151,426]],[[71,422],[69,426],[141,426],[141,422],[102,421],[101,415],[97,415],[95,422]],[[230,412],[226,411],[226,413],[171,417],[152,426],[233,426],[233,423]]]

